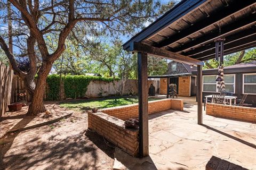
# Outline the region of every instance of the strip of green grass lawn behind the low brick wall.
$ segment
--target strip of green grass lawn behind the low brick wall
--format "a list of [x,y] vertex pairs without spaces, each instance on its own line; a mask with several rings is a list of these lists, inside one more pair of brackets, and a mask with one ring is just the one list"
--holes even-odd
[[[159,98],[149,97],[149,101],[159,100]],[[78,109],[78,110],[90,110],[92,108],[108,108],[115,106],[123,106],[138,103],[138,97],[111,97],[111,98],[100,98],[100,99],[86,99],[86,100],[75,100],[65,101],[60,103],[61,107]]]

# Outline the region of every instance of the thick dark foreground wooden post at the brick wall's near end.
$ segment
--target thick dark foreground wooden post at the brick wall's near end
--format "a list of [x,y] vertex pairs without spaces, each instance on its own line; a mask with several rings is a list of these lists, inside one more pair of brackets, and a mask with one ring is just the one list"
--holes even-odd
[[149,155],[148,144],[148,56],[138,52],[139,156]]

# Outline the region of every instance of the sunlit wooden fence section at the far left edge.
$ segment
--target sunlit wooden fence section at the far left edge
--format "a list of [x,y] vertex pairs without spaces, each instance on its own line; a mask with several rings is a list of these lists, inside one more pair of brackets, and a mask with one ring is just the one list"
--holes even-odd
[[11,103],[13,70],[0,62],[0,119]]

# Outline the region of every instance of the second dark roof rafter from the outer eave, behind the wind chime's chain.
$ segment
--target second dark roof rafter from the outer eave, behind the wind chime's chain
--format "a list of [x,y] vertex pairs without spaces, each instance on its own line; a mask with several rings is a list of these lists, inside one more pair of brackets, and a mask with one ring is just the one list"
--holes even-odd
[[221,35],[219,35],[219,30],[207,33],[202,37],[195,39],[194,41],[190,41],[189,43],[186,43],[180,47],[172,49],[172,52],[178,53],[178,52],[182,52],[183,50],[188,50],[188,49],[191,50],[191,48],[195,46],[205,45],[207,43],[210,43],[214,41],[214,39],[216,38],[233,35],[233,33],[239,32],[245,28],[255,25],[256,23],[255,18],[256,18],[256,13],[252,14],[252,16],[248,17],[248,19],[246,20],[245,19],[238,20],[237,22],[223,26],[221,28]]

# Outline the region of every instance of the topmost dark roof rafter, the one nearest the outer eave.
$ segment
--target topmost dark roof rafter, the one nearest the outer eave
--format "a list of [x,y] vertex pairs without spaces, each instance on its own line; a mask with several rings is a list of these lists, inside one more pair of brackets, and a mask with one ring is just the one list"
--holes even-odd
[[177,33],[177,35],[172,36],[170,39],[167,38],[161,41],[159,44],[156,45],[156,47],[161,48],[177,43],[177,41],[179,41],[180,39],[189,37],[196,32],[202,31],[210,27],[211,25],[218,24],[220,20],[225,20],[231,15],[239,13],[240,11],[245,10],[245,8],[249,8],[255,4],[256,3],[254,0],[237,1],[236,3],[233,3],[233,5],[228,5],[227,7],[225,7],[225,9],[223,9],[221,12],[217,11],[214,14],[211,14],[211,17],[204,20],[204,22],[198,21],[197,23],[194,23],[190,26],[189,30],[180,31],[179,33]]

